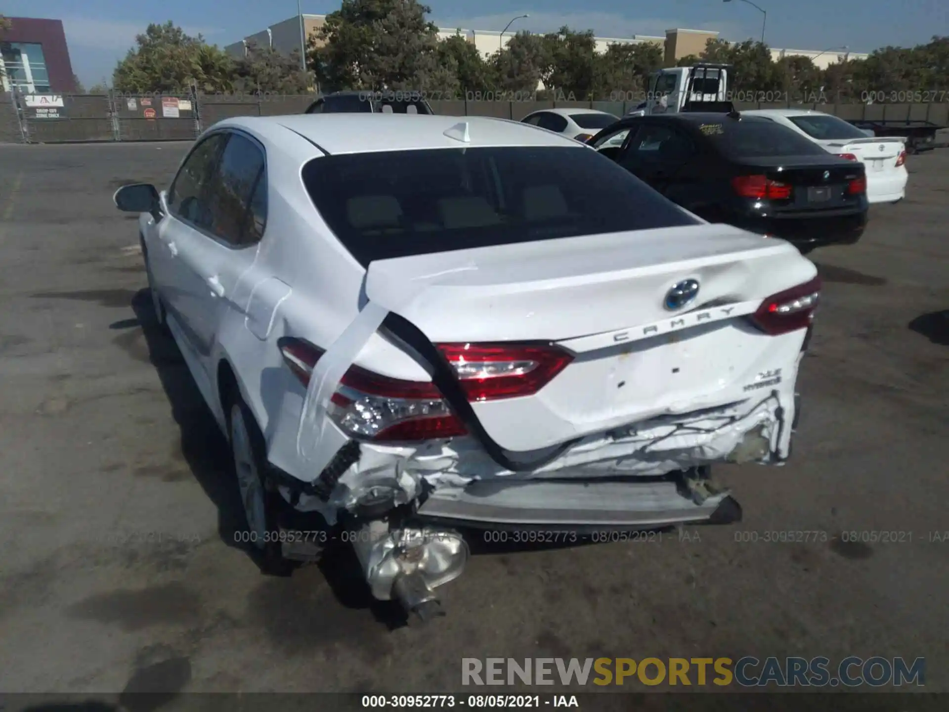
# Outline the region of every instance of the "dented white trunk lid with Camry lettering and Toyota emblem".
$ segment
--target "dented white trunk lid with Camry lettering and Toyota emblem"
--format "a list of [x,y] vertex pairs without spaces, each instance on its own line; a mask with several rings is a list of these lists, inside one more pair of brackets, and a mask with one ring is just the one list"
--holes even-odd
[[[573,361],[535,395],[473,404],[495,442],[529,451],[747,397],[742,386],[787,338],[747,315],[815,274],[789,243],[700,224],[382,260],[365,294],[434,343],[568,348]],[[666,309],[684,280],[698,282],[695,300]],[[791,351],[793,364],[799,344]]]

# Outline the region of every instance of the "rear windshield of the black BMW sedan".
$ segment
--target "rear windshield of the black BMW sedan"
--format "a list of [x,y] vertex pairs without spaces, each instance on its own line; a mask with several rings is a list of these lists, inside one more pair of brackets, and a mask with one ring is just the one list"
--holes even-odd
[[769,156],[826,156],[827,151],[796,131],[770,120],[703,123],[699,129],[726,156],[758,159]]

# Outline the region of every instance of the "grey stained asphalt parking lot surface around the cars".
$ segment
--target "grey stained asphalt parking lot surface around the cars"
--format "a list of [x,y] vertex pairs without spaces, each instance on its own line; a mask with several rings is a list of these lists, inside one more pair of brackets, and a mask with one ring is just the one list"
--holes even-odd
[[186,148],[0,147],[5,691],[458,691],[463,657],[744,655],[925,657],[949,691],[949,151],[910,157],[857,245],[810,255],[791,461],[717,470],[741,523],[477,547],[417,629],[344,551],[273,578],[234,542],[225,443],[111,201],[167,187]]

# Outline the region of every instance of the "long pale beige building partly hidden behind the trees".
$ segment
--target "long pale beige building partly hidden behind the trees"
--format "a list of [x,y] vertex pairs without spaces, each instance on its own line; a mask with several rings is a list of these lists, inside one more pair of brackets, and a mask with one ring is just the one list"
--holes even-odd
[[[300,49],[301,39],[309,37],[323,27],[326,15],[295,15],[270,28],[263,29],[245,37],[240,42],[224,47],[225,51],[234,57],[243,57],[247,47],[253,43],[258,47],[273,47],[280,52],[289,54]],[[441,39],[460,35],[477,47],[485,58],[490,57],[501,47],[505,47],[516,34],[516,29],[507,32],[490,29],[438,28]],[[718,33],[706,29],[674,28],[665,31],[665,37],[650,35],[633,35],[632,37],[596,37],[596,51],[605,52],[606,47],[618,44],[651,43],[663,48],[666,66],[674,66],[679,59],[690,54],[701,54],[709,40],[717,39]],[[828,66],[841,62],[844,59],[865,59],[866,54],[848,52],[846,49],[834,47],[832,49],[778,49],[772,48],[772,59],[779,60],[786,56],[810,57],[814,65],[826,69]]]

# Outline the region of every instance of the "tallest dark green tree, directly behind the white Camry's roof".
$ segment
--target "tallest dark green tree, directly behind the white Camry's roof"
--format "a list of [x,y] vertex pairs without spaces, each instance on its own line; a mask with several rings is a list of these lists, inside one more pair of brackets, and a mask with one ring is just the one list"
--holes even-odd
[[[343,0],[310,38],[309,59],[326,90],[444,89],[456,84],[439,66],[431,9],[418,0]],[[322,44],[322,46],[320,46]]]

